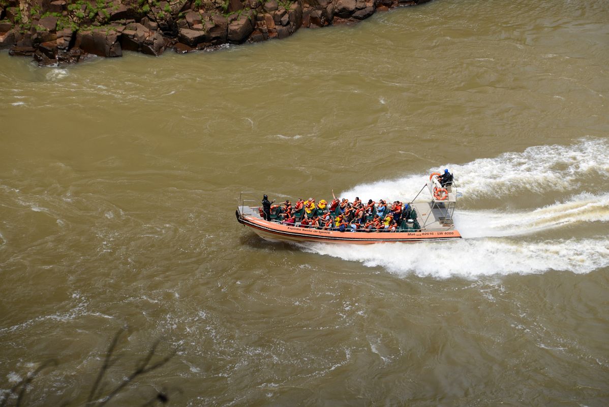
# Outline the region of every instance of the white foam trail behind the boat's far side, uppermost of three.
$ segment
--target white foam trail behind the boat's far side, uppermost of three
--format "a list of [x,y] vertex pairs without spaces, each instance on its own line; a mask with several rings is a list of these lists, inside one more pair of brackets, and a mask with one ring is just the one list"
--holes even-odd
[[438,165],[425,174],[357,185],[340,197],[409,200],[420,191],[431,172],[443,168],[451,169],[459,191],[468,199],[488,199],[491,189],[495,198],[527,190],[576,191],[585,188],[583,178],[605,177],[609,172],[609,140],[585,138],[570,146],[535,146],[462,165]]

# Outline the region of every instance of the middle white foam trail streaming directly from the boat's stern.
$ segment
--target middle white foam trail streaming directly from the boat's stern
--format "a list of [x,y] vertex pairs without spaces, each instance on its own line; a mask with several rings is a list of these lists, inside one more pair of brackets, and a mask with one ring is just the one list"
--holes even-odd
[[585,222],[609,222],[609,193],[583,193],[567,202],[518,213],[456,211],[454,221],[465,238],[525,235]]

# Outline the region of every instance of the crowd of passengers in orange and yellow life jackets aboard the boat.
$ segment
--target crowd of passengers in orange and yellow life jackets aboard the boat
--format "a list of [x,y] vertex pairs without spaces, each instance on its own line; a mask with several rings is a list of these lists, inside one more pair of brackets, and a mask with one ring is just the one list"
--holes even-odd
[[281,224],[296,225],[297,214],[304,212],[298,227],[340,232],[395,232],[400,227],[400,222],[403,219],[410,219],[412,214],[408,203],[404,204],[397,200],[391,205],[383,199],[379,200],[378,205],[371,199],[368,203],[364,203],[359,197],[353,202],[345,198],[339,200],[336,197],[331,202],[322,199],[319,203],[313,198],[298,199],[294,205],[287,199],[282,205],[271,205],[273,202],[269,202],[266,195],[262,200],[261,214],[267,221],[271,221],[271,213],[278,213],[276,221]]

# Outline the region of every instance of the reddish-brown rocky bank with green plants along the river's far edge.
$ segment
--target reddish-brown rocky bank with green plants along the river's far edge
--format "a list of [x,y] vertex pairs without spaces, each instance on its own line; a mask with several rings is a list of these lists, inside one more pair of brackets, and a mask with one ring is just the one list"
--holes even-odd
[[285,38],[429,0],[0,0],[0,49],[40,65]]

